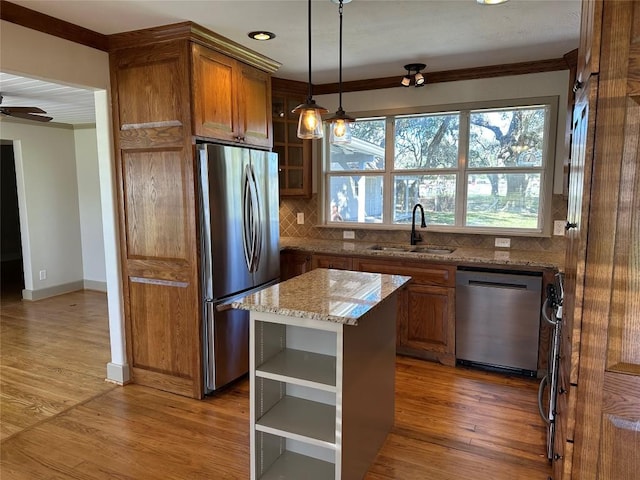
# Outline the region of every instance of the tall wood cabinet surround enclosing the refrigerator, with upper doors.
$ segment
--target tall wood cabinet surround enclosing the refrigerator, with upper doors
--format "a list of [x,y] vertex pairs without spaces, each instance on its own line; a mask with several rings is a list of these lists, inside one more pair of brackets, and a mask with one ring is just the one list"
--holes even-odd
[[131,377],[201,398],[195,144],[270,149],[279,64],[191,22],[109,40]]

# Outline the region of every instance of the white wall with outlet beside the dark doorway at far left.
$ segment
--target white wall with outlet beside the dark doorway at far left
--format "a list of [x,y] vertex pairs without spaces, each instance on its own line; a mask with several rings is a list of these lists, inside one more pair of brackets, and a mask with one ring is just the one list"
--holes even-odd
[[23,296],[75,290],[83,272],[73,129],[0,120],[0,135],[14,142],[22,247],[31,259]]

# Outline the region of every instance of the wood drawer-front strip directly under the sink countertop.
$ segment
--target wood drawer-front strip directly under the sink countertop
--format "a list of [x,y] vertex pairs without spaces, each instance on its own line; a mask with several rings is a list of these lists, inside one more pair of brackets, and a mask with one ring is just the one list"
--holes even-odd
[[414,283],[423,285],[454,287],[456,281],[456,267],[451,265],[354,258],[353,269],[362,272],[407,275],[413,278]]

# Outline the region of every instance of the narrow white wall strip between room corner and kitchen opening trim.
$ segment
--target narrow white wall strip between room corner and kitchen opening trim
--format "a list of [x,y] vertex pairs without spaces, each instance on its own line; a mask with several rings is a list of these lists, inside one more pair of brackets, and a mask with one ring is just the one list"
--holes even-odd
[[96,129],[76,127],[73,133],[82,239],[82,278],[85,288],[106,291]]

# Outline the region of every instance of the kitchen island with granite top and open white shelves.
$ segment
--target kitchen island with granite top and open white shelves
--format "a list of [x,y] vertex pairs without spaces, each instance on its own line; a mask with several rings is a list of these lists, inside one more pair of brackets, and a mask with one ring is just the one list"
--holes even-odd
[[393,425],[396,293],[410,277],[316,269],[250,311],[252,479],[360,479]]

